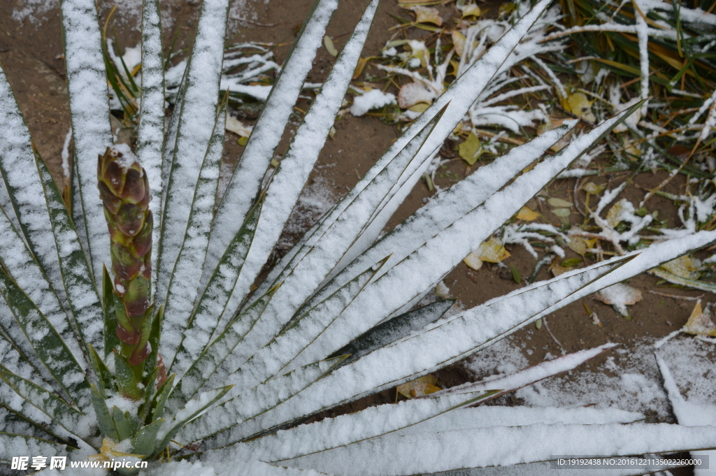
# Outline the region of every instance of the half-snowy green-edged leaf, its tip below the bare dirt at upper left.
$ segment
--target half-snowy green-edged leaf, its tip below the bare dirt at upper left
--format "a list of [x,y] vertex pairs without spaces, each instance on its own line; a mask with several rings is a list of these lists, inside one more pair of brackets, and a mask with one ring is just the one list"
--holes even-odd
[[102,339],[102,304],[97,286],[92,281],[87,256],[79,244],[77,230],[70,218],[62,195],[52,179],[47,165],[41,157],[35,157],[37,171],[42,179],[44,197],[47,200],[52,235],[57,246],[59,269],[67,292],[69,310],[74,316],[79,335],[85,346],[92,344],[101,352],[104,348]]

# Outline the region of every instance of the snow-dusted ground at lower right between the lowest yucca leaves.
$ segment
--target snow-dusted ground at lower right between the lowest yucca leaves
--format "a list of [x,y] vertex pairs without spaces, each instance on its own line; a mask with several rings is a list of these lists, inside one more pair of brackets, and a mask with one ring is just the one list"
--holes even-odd
[[[520,389],[516,397],[535,407],[616,407],[672,421],[671,404],[662,384],[657,359],[666,361],[674,380],[689,402],[716,404],[716,371],[710,354],[713,344],[678,336],[659,349],[655,339],[642,339],[631,348],[618,346],[596,371],[576,369]],[[476,378],[504,374],[528,366],[528,342],[503,339],[465,361]],[[548,354],[549,355],[549,354]]]

